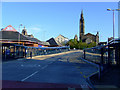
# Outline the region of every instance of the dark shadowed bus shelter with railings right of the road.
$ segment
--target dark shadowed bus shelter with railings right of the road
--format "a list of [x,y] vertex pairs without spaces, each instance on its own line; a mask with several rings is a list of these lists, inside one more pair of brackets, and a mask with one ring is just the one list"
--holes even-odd
[[120,43],[84,49],[83,58],[99,65],[100,72],[111,66],[120,66]]

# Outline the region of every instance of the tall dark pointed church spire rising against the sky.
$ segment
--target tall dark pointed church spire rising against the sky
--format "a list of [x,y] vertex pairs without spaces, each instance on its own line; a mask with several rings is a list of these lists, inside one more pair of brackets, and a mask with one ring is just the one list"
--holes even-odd
[[84,33],[85,33],[85,25],[84,25],[84,17],[83,17],[83,10],[81,11],[81,18],[80,18],[80,26],[79,26],[79,40],[82,40],[84,37]]

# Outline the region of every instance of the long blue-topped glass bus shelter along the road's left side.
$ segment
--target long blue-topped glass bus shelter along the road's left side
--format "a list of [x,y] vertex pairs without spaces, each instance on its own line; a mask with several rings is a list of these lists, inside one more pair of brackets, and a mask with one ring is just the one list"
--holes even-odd
[[69,50],[69,46],[64,47],[27,47],[22,45],[4,43],[2,47],[2,60],[10,60],[16,58],[30,57],[30,53],[32,52],[32,56],[38,55],[48,55],[54,53],[65,52]]

